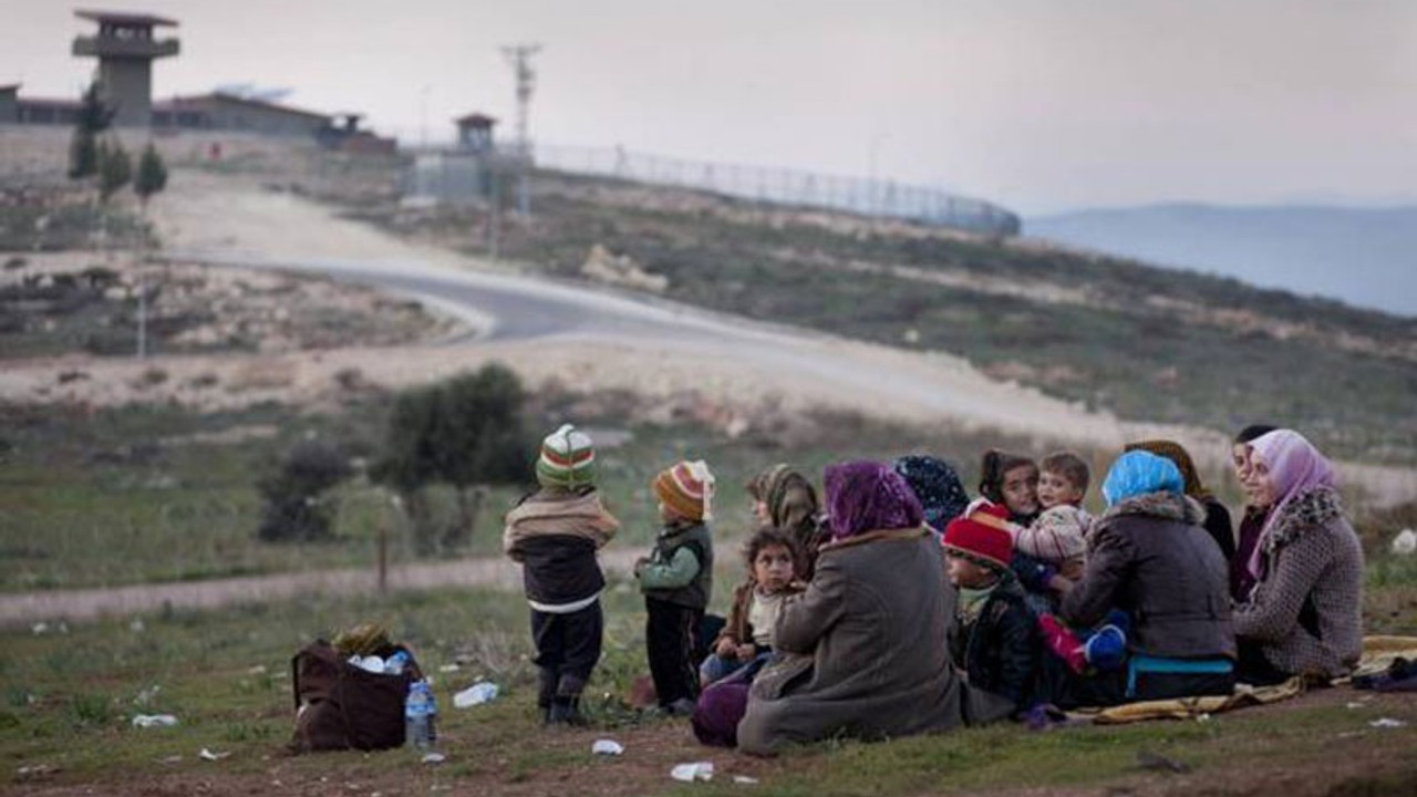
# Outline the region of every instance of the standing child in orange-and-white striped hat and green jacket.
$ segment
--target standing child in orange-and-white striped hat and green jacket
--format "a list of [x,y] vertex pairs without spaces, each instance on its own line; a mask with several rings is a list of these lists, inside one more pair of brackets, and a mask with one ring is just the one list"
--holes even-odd
[[699,625],[713,596],[714,478],[703,461],[677,462],[652,482],[665,526],[648,559],[635,563],[645,593],[645,648],[662,709],[690,715],[699,695],[694,662],[703,658]]

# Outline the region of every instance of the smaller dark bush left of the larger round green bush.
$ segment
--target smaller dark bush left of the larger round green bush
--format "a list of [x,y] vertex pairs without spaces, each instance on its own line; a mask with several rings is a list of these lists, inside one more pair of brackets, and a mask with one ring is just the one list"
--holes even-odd
[[322,494],[351,472],[339,447],[319,438],[295,444],[279,472],[256,485],[264,501],[258,536],[266,542],[329,539],[334,511]]

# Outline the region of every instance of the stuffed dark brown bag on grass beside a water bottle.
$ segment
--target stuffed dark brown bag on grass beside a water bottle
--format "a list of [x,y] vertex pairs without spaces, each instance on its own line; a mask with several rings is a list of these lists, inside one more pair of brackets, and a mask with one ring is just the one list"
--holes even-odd
[[[390,647],[383,654],[408,652]],[[290,659],[295,696],[295,753],[316,750],[385,750],[404,745],[404,699],[408,685],[422,678],[408,654],[398,675],[360,669],[324,640]],[[387,657],[385,657],[387,658]]]

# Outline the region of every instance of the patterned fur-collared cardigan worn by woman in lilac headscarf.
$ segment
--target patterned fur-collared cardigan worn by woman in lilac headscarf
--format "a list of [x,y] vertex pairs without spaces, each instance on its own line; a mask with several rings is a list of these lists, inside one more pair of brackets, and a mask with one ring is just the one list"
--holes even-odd
[[1316,486],[1295,496],[1260,546],[1260,580],[1236,607],[1236,634],[1292,675],[1352,672],[1363,652],[1363,549],[1338,492]]

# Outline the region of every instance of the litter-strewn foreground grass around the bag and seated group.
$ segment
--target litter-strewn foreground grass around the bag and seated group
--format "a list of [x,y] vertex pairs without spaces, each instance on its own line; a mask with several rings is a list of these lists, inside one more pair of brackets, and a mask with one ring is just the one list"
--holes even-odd
[[[1404,784],[1413,777],[1406,750],[1417,742],[1417,699],[1340,689],[1210,722],[1049,733],[992,726],[884,743],[823,742],[772,760],[710,750],[691,740],[682,720],[643,719],[621,706],[628,679],[646,671],[643,607],[632,589],[619,584],[605,603],[606,652],[587,693],[595,726],[572,732],[540,726],[527,661],[527,608],[517,594],[436,590],[310,598],[154,614],[142,617],[142,624],[105,621],[65,634],[0,632],[7,651],[0,659],[0,681],[7,685],[0,760],[10,764],[4,779],[20,786],[21,767],[54,767],[44,780],[50,787],[102,783],[118,794],[145,793],[154,784],[179,793],[198,783],[217,793],[262,791],[273,781],[299,793],[356,784],[359,791],[384,793],[436,787],[543,794],[574,784],[604,794],[741,794],[744,786],[733,776],[747,774],[760,781],[754,794],[897,796],[1149,791],[1166,783],[1226,794],[1251,793],[1246,786],[1251,781],[1272,787],[1272,779],[1294,773],[1335,788]],[[421,767],[405,750],[281,754],[292,729],[290,655],[316,637],[364,620],[388,625],[434,674],[441,749],[449,756],[444,767]],[[479,658],[486,651],[497,652]],[[455,662],[456,672],[442,671]],[[453,709],[451,695],[483,676],[503,686],[499,699]],[[1369,702],[1348,708],[1355,699]],[[130,725],[135,713],[173,713],[180,725],[139,729]],[[1413,725],[1373,730],[1367,722],[1377,716]],[[589,745],[598,737],[621,740],[626,754],[592,759]],[[230,757],[203,762],[196,757],[203,747]],[[1142,766],[1156,756],[1190,773]],[[669,780],[673,764],[706,759],[717,762],[720,776],[713,783],[689,788]]]

